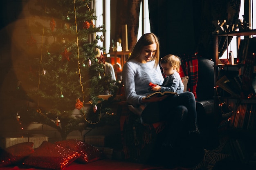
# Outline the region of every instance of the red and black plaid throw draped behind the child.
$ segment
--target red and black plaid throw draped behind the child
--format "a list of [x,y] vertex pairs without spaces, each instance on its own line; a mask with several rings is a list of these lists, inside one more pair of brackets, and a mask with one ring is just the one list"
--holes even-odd
[[183,55],[181,58],[180,77],[189,76],[188,91],[191,91],[197,99],[195,92],[198,82],[198,56]]

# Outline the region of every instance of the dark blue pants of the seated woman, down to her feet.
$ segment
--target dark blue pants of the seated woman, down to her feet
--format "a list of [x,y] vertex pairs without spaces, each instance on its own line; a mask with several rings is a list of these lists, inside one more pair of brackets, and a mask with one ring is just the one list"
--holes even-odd
[[[154,155],[157,155],[157,158],[152,159],[170,161],[171,155],[173,155],[173,160],[175,158],[176,161],[184,161],[181,158],[184,157],[185,152],[193,144],[198,143],[198,139],[191,138],[189,134],[191,131],[198,130],[195,97],[191,92],[180,93],[179,96],[170,96],[164,101],[150,103],[141,117],[146,124],[158,121],[167,123],[166,129],[163,133],[158,134],[157,140],[153,144]],[[168,146],[163,149],[165,143],[171,144],[170,150]],[[178,153],[182,155],[178,156]]]

